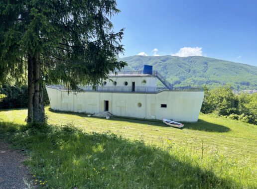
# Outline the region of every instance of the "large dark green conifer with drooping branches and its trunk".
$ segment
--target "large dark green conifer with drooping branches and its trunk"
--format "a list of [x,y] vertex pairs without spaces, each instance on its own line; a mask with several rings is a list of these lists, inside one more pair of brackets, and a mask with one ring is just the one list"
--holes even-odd
[[1,0],[0,83],[28,78],[28,122],[44,121],[43,85],[96,86],[126,63],[116,0]]

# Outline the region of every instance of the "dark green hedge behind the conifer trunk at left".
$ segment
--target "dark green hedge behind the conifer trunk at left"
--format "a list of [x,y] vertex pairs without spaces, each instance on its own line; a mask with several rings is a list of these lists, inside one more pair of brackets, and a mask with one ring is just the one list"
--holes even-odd
[[[27,86],[3,86],[0,93],[6,95],[0,101],[0,109],[19,108],[28,106],[28,87]],[[49,98],[44,88],[44,105],[49,105]]]

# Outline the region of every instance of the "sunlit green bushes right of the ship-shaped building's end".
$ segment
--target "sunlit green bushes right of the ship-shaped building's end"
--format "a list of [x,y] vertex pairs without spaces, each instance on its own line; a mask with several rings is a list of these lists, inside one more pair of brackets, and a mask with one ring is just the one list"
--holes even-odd
[[257,124],[257,93],[235,95],[230,85],[212,91],[205,87],[201,112]]

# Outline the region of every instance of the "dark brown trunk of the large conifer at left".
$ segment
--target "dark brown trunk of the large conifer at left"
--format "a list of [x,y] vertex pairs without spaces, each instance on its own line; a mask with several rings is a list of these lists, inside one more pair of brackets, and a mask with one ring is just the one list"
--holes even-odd
[[28,119],[27,122],[44,121],[43,83],[39,53],[28,55]]

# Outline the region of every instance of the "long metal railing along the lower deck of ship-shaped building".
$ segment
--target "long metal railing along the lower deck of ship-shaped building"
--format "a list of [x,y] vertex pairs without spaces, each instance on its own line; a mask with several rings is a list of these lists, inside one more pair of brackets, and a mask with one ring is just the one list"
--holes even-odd
[[[67,90],[63,86],[48,86],[50,88]],[[97,87],[93,89],[92,86],[82,87],[83,91],[96,92],[120,92],[120,93],[158,93],[160,91],[204,91],[200,87]]]

